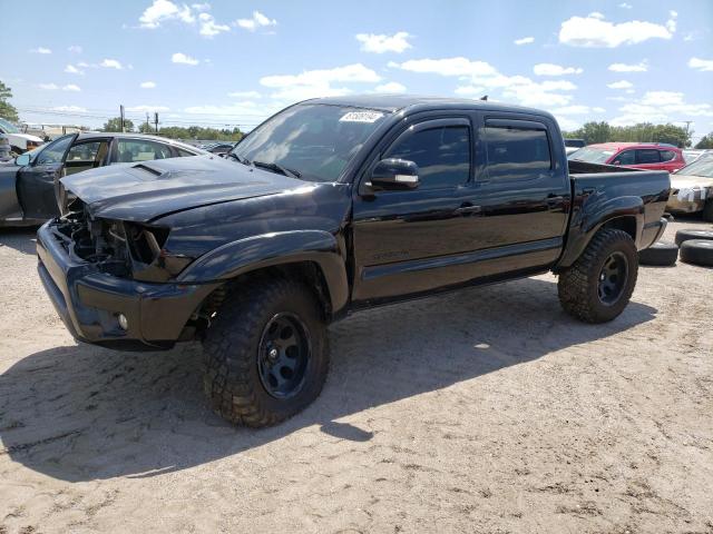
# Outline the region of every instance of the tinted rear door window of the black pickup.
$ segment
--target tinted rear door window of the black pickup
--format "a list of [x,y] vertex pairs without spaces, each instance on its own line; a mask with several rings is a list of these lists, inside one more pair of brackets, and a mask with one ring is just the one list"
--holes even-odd
[[512,126],[501,125],[501,121],[486,122],[488,176],[491,179],[537,178],[551,169],[545,126],[539,128],[526,125],[518,127],[517,121],[512,121]]

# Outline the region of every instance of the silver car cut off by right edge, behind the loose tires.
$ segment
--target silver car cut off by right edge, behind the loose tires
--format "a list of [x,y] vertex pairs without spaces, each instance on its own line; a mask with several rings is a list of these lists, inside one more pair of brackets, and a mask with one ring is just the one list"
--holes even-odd
[[696,159],[671,177],[666,210],[673,214],[702,211],[713,222],[713,154]]

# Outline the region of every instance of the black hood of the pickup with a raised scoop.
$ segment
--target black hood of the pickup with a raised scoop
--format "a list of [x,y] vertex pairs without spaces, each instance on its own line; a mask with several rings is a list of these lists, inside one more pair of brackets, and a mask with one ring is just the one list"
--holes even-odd
[[305,185],[215,156],[111,165],[62,178],[61,184],[85,202],[91,215],[137,222]]

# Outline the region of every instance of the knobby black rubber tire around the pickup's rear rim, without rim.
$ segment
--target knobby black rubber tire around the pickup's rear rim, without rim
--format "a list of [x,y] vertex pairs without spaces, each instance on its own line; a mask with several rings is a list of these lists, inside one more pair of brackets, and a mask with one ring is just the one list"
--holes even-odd
[[[599,274],[614,253],[622,253],[626,257],[627,277],[618,299],[605,305],[598,296]],[[559,274],[559,303],[565,312],[579,320],[606,323],[617,317],[628,304],[636,286],[637,273],[638,257],[632,237],[622,230],[602,229],[592,238],[582,256]]]

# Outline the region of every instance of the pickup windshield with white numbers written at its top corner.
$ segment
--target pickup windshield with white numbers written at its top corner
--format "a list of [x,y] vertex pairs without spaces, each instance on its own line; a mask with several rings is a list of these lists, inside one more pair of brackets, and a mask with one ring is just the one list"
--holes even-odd
[[251,132],[231,154],[247,162],[276,164],[305,180],[336,181],[385,117],[384,111],[345,106],[293,106]]

